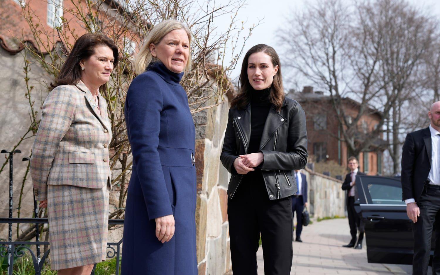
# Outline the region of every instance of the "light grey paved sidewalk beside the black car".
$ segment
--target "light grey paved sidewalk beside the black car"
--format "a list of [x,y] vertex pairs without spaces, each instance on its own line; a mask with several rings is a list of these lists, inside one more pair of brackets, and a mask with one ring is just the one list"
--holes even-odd
[[[294,275],[411,274],[411,265],[369,264],[365,238],[363,249],[345,248],[350,241],[347,219],[323,220],[303,227],[303,242],[293,242]],[[258,275],[264,275],[263,249],[257,252]],[[428,274],[432,274],[429,268]]]

